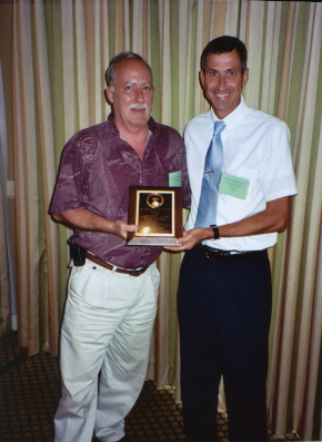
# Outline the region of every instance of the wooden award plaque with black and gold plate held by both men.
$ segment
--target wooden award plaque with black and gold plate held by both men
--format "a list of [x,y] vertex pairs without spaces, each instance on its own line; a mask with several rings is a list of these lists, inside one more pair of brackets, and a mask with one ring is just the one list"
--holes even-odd
[[139,226],[128,233],[128,245],[177,246],[182,235],[181,187],[131,186],[128,223]]

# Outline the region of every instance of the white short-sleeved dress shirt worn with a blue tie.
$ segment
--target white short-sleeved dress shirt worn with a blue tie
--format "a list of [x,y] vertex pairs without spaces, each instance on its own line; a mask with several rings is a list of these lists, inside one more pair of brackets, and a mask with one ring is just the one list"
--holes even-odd
[[[214,121],[210,110],[188,122],[184,131],[191,187],[191,210],[184,229],[194,228],[204,159]],[[266,208],[266,202],[296,195],[288,126],[280,119],[240,105],[223,121],[223,173],[249,180],[245,199],[219,195],[217,225],[234,223]],[[214,223],[213,223],[214,224]],[[204,244],[225,251],[260,251],[276,243],[276,233],[209,239]]]

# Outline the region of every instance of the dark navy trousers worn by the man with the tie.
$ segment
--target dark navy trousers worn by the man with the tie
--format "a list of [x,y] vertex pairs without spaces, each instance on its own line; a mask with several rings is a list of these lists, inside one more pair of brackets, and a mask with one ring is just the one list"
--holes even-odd
[[211,261],[198,248],[182,262],[178,313],[181,391],[189,442],[218,440],[221,375],[230,441],[265,441],[271,272],[266,251]]

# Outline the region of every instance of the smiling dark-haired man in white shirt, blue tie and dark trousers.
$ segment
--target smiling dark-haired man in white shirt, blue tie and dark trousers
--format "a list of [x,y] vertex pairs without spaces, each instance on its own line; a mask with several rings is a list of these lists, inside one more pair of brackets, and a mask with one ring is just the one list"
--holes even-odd
[[[192,199],[178,239],[187,251],[178,312],[188,442],[218,440],[221,375],[229,440],[266,440],[272,296],[266,249],[288,226],[296,185],[289,129],[245,105],[241,92],[248,79],[244,43],[227,36],[212,40],[202,52],[200,71],[211,110],[193,118],[184,134]],[[223,121],[215,140],[223,159],[219,191],[213,190],[211,200],[200,196],[203,176],[213,173],[204,167],[217,121]],[[200,222],[200,215],[208,220]]]

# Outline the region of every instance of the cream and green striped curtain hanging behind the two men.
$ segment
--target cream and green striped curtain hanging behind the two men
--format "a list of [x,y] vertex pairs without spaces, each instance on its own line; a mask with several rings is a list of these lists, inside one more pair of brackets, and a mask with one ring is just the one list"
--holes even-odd
[[[209,109],[198,79],[203,47],[218,36],[237,36],[249,50],[245,101],[289,125],[299,185],[290,226],[270,251],[269,424],[275,434],[295,430],[303,440],[321,440],[322,4],[16,0],[12,8],[20,344],[29,354],[57,354],[70,232],[47,210],[64,144],[110,111],[103,97],[109,60],[122,50],[142,55],[153,72],[153,118],[183,134],[192,117]],[[159,385],[179,385],[175,296],[181,258],[163,253],[158,262],[161,285],[149,376]]]

